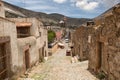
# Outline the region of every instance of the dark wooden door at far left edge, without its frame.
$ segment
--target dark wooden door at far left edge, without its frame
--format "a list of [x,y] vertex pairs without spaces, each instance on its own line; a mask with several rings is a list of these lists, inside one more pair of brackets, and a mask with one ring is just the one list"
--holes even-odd
[[4,80],[9,76],[10,54],[6,49],[7,43],[0,43],[0,80]]

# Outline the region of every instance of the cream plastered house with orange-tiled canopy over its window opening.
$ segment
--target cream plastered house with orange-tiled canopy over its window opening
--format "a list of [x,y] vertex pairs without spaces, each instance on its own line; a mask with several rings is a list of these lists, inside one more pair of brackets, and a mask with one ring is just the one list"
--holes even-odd
[[[8,18],[16,24],[19,65],[24,71],[48,57],[47,30],[36,18]],[[25,57],[24,57],[25,55]]]

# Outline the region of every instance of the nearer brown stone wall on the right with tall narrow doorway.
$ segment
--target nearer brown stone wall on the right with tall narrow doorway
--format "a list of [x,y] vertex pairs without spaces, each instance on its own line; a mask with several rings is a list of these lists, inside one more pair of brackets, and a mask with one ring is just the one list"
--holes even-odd
[[[107,80],[120,77],[120,6],[113,8],[102,20],[95,21],[90,46],[89,69],[103,72]],[[99,23],[98,23],[99,22]]]

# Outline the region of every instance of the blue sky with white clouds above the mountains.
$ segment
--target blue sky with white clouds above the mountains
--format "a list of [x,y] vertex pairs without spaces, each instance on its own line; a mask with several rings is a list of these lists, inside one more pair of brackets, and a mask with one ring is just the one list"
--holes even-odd
[[4,0],[37,12],[60,13],[75,18],[94,18],[120,0]]

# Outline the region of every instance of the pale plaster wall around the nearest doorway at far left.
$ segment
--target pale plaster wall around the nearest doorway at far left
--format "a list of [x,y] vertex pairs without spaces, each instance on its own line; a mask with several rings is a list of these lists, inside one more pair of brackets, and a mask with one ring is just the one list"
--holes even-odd
[[18,72],[18,48],[17,48],[17,34],[16,34],[16,26],[15,23],[7,20],[5,18],[0,17],[0,36],[9,36],[10,37],[10,64],[11,64],[11,73],[17,74]]

